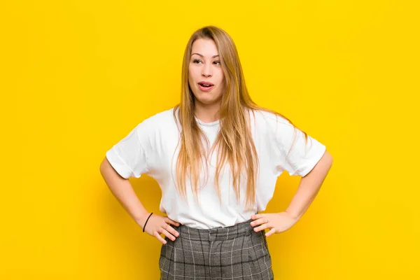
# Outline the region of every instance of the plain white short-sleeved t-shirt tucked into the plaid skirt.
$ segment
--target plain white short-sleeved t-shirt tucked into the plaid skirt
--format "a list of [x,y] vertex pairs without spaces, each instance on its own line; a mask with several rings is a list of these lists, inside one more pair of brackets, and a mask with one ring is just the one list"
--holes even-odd
[[[106,158],[116,172],[125,179],[139,178],[141,174],[153,177],[162,190],[160,211],[169,218],[193,228],[227,227],[248,221],[251,215],[264,211],[272,199],[277,177],[286,171],[290,176],[305,176],[321,159],[325,146],[308,136],[305,149],[304,135],[280,116],[265,111],[250,114],[251,132],[259,157],[259,172],[255,191],[255,207],[246,211],[246,193],[241,193],[237,202],[235,190],[231,185],[229,170],[220,176],[220,203],[214,186],[216,172],[216,152],[208,165],[208,180],[200,190],[197,203],[193,190],[187,189],[188,203],[181,198],[174,184],[176,157],[179,148],[179,128],[173,116],[174,108],[151,116],[134,127],[109,151]],[[214,123],[197,123],[209,139],[210,146],[220,129],[220,120]],[[286,155],[295,137],[295,143],[288,158]],[[189,186],[189,185],[187,185]],[[243,182],[241,189],[245,190]],[[280,209],[279,209],[280,211]]]

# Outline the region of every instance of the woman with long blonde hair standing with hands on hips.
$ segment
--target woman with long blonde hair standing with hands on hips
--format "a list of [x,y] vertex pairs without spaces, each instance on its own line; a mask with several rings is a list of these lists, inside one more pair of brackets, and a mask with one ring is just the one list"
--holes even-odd
[[[161,279],[273,279],[266,237],[300,219],[332,157],[286,117],[253,103],[223,29],[195,31],[182,70],[180,104],[107,151],[102,176],[143,231],[162,242]],[[283,171],[302,176],[288,209],[258,214]],[[138,200],[127,179],[141,174],[158,181],[167,216]]]

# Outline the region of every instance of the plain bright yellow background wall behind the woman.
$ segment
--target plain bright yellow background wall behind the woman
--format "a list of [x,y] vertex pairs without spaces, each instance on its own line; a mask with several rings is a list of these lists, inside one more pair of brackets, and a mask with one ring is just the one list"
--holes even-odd
[[[279,279],[420,279],[416,1],[3,1],[0,279],[158,279],[160,243],[99,173],[141,120],[179,102],[190,35],[232,36],[255,102],[334,165],[290,230]],[[160,189],[130,180],[149,211]],[[283,174],[267,212],[299,178]]]

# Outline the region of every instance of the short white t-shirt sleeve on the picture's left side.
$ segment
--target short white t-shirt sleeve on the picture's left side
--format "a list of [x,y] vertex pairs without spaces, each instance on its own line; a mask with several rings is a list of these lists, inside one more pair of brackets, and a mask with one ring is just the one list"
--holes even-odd
[[140,123],[106,152],[109,163],[125,179],[139,178],[141,174],[148,172],[147,154],[141,145],[141,138],[144,137],[139,137],[145,133],[144,125]]

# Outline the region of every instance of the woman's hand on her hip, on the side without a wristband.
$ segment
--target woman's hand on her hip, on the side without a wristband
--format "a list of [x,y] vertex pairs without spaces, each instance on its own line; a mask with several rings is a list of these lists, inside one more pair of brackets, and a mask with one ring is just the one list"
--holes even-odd
[[265,230],[267,228],[271,229],[269,232],[265,233],[266,237],[269,237],[273,233],[284,232],[298,221],[297,218],[294,218],[286,211],[274,214],[252,215],[251,219],[254,220],[251,223],[251,226],[255,227],[255,225],[259,225],[254,228],[255,232],[259,232],[260,230]]

